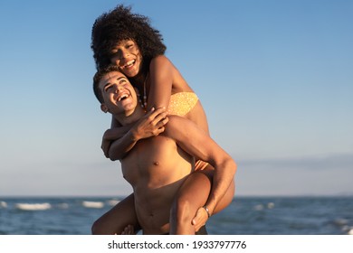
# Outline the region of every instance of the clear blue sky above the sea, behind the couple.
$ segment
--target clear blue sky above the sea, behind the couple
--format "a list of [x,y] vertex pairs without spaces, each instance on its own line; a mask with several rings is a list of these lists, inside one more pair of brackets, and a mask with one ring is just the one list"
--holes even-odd
[[4,0],[0,196],[131,192],[91,89],[91,26],[119,3],[163,34],[238,164],[236,194],[353,194],[352,1]]

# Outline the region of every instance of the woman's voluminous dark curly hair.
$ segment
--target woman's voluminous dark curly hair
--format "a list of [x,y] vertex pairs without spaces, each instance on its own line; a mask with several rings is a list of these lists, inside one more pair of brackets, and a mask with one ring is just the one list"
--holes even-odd
[[131,7],[118,5],[108,13],[101,14],[93,24],[91,49],[97,70],[110,64],[111,50],[122,40],[138,44],[145,64],[166,52],[162,35],[154,29],[147,16],[132,14]]

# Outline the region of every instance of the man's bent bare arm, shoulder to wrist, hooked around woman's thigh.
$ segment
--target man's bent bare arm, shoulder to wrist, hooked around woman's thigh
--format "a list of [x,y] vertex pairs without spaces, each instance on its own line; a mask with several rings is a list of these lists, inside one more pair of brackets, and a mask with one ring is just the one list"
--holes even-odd
[[188,154],[214,166],[212,189],[205,203],[209,214],[212,215],[216,204],[223,198],[234,180],[236,172],[234,160],[211,137],[207,136],[205,131],[184,117],[170,116],[165,132]]

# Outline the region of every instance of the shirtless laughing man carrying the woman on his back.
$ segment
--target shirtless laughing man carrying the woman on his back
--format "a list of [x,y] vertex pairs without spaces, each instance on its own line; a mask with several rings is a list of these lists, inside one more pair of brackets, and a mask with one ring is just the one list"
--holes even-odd
[[[93,86],[101,110],[110,112],[122,126],[142,120],[160,128],[157,136],[141,139],[136,137],[137,129],[132,127],[127,136],[137,141],[129,154],[120,160],[123,176],[133,188],[135,211],[143,233],[167,234],[172,229],[171,206],[177,192],[194,171],[195,159],[215,167],[213,183],[203,174],[205,187],[195,189],[195,194],[199,195],[198,206],[204,207],[208,214],[214,211],[217,200],[223,197],[221,192],[226,192],[234,180],[236,164],[233,159],[190,120],[168,116],[164,127],[165,122],[160,123],[166,120],[163,109],[146,115],[138,104],[135,89],[118,67],[110,66],[96,73]],[[196,213],[186,211],[192,217]],[[178,224],[192,228],[188,220],[179,220]]]

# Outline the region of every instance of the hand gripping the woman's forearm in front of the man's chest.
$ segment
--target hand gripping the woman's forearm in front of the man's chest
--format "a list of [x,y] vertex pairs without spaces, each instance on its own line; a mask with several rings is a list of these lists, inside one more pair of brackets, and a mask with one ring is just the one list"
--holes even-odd
[[168,122],[166,108],[152,108],[144,117],[141,117],[131,131],[136,141],[151,136],[158,136],[164,132]]

